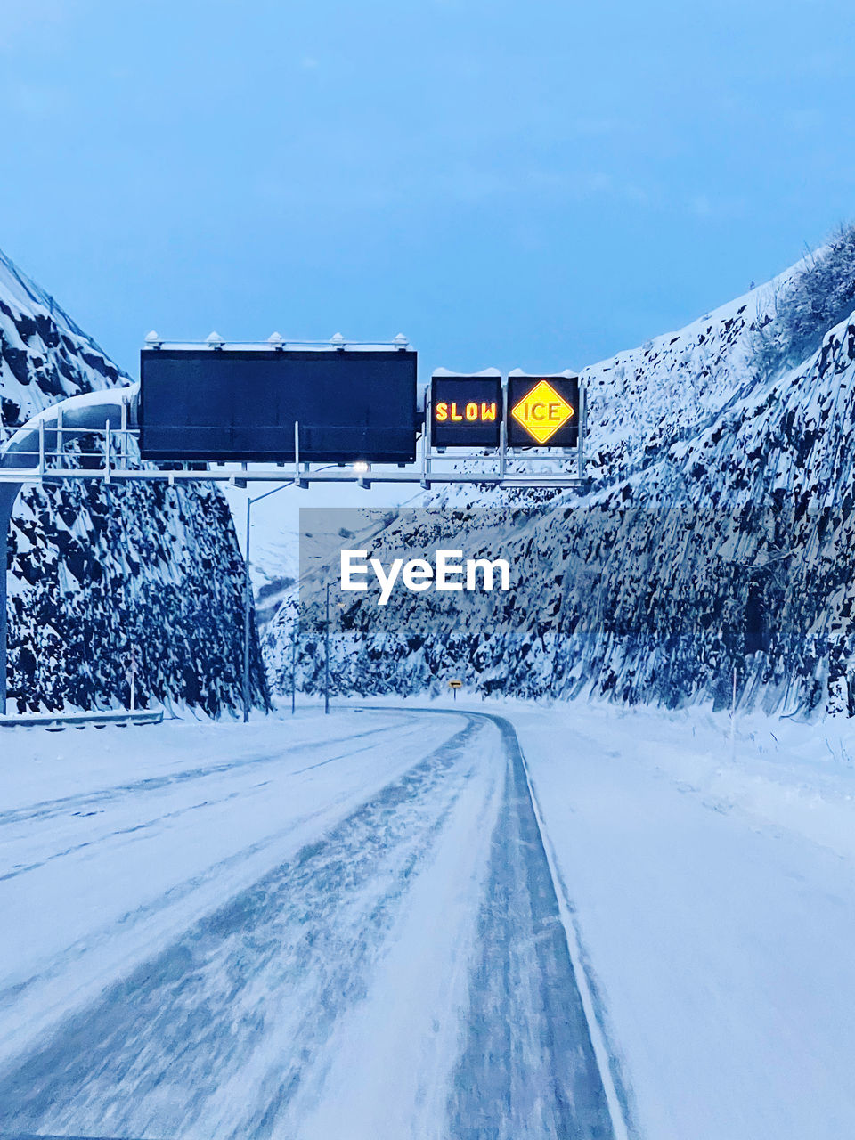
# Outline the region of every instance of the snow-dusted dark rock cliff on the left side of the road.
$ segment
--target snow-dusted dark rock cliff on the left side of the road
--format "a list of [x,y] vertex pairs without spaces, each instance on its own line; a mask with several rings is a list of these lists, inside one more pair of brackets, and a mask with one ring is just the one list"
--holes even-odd
[[[130,383],[0,253],[0,422]],[[11,520],[10,711],[141,703],[217,715],[241,699],[244,570],[228,506],[205,484],[27,486]],[[264,682],[253,642],[253,697]]]

